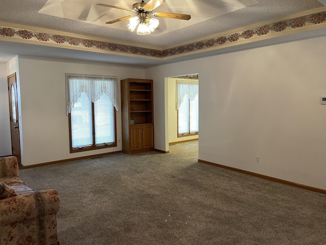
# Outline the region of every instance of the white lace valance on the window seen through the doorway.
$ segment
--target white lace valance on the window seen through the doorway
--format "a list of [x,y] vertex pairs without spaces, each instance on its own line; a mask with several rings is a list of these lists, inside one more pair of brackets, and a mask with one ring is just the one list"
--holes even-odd
[[180,107],[185,95],[193,101],[198,94],[198,80],[176,80],[176,110]]

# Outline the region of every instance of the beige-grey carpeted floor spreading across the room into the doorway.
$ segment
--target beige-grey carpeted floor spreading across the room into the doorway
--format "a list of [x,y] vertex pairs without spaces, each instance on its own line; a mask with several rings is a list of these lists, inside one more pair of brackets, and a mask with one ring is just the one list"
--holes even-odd
[[326,244],[326,195],[197,162],[198,141],[21,169],[57,189],[61,245]]

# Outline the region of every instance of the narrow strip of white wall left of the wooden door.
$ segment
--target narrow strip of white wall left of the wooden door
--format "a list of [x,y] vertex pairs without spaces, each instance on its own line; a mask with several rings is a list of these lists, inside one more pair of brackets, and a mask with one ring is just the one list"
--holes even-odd
[[11,155],[7,65],[0,63],[0,156]]

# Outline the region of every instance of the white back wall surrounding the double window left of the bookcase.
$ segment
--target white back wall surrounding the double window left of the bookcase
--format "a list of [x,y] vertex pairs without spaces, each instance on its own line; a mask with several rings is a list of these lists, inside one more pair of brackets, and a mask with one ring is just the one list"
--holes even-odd
[[118,76],[120,89],[121,79],[144,78],[144,68],[23,56],[18,59],[23,165],[122,150],[121,113],[117,113],[117,147],[80,153],[69,152],[65,73]]

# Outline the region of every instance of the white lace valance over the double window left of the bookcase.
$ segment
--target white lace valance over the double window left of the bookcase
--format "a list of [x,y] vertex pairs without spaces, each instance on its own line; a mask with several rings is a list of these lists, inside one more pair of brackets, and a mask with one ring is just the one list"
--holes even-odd
[[102,94],[106,94],[116,108],[116,111],[119,111],[117,77],[66,74],[67,115],[71,112],[71,108],[74,107],[83,92],[86,93],[92,102],[97,101]]

